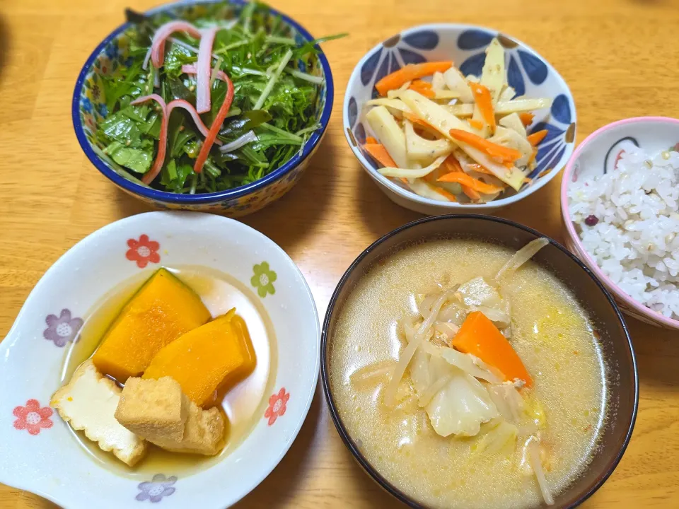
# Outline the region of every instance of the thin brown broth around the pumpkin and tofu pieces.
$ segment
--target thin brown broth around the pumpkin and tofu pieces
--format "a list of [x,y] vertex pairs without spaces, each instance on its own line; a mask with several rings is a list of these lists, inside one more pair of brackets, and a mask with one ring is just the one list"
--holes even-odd
[[[69,426],[76,440],[95,462],[116,474],[142,480],[148,480],[158,472],[178,476],[195,474],[216,464],[236,449],[264,415],[268,397],[274,392],[273,383],[278,363],[273,325],[261,300],[248,287],[228,274],[207,267],[166,268],[199,295],[212,317],[223,315],[231,308],[236,308],[236,312],[248,326],[257,356],[257,365],[248,378],[219,398],[220,411],[228,418],[228,424],[226,445],[214,457],[168,452],[151,445],[146,457],[134,468],[129,468],[110,453],[100,450],[83,432],[74,431]],[[81,328],[79,340],[71,344],[69,351],[66,352],[59,385],[68,382],[76,368],[93,355],[109,325],[152,274],[153,271],[144,271],[139,276],[125,281],[93,306]]]

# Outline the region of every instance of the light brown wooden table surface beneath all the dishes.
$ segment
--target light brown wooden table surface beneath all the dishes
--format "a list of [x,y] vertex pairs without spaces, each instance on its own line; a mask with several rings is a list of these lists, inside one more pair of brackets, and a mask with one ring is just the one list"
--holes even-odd
[[[149,209],[95,170],[71,126],[81,65],[122,21],[125,6],[157,0],[0,1],[0,338],[42,274],[69,247],[117,219]],[[298,264],[321,317],[335,284],[370,242],[419,217],[389,201],[342,133],[342,98],[354,64],[377,42],[419,23],[487,25],[534,47],[573,92],[578,141],[638,115],[679,117],[679,0],[272,0],[325,45],[335,110],[320,150],[283,199],[243,221]],[[313,9],[310,5],[313,4]],[[559,182],[499,215],[562,240]],[[639,417],[613,476],[591,508],[679,507],[679,334],[628,320],[639,361]],[[574,380],[576,382],[576,380]],[[320,385],[320,384],[319,384]],[[4,397],[4,394],[0,394]],[[6,458],[0,458],[6,461]],[[66,468],[66,467],[64,467]],[[274,472],[238,508],[393,508],[337,435],[317,391],[306,423]],[[48,508],[0,485],[0,507]]]

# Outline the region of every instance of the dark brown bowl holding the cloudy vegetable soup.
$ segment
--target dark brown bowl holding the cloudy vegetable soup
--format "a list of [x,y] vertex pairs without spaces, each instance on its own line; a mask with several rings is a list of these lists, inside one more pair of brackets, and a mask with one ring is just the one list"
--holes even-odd
[[[425,506],[400,490],[366,459],[366,455],[361,452],[360,440],[357,443],[357,439],[352,437],[342,421],[342,412],[337,404],[337,398],[333,395],[330,351],[342,306],[347,303],[356,284],[369,269],[381,264],[386,257],[403,247],[426,240],[464,238],[493,242],[511,250],[518,250],[539,237],[544,235],[501,218],[475,214],[423,218],[393,230],[368,246],[349,266],[332,295],[321,339],[321,376],[330,414],[340,437],[356,462],[374,481],[410,507]],[[562,281],[571,296],[587,310],[596,327],[594,336],[597,337],[598,334],[600,337],[598,341],[606,367],[607,421],[600,431],[598,445],[594,448],[591,462],[584,471],[566,488],[555,494],[555,505],[552,506],[569,508],[579,505],[591,496],[608,479],[625,452],[637,416],[639,399],[637,365],[632,341],[620,310],[593,273],[552,239],[535,254],[533,261]]]

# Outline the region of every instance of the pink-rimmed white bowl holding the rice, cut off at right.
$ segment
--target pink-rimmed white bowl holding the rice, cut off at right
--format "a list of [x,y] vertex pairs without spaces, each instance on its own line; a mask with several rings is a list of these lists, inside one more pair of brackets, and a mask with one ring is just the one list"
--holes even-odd
[[623,312],[651,325],[679,330],[679,321],[646,308],[622,291],[586,252],[568,210],[568,189],[584,177],[597,177],[615,170],[617,156],[627,148],[641,147],[649,153],[675,148],[679,142],[679,120],[666,117],[637,117],[620,120],[594,131],[578,146],[566,165],[561,185],[561,212],[566,227],[566,245],[596,274]]

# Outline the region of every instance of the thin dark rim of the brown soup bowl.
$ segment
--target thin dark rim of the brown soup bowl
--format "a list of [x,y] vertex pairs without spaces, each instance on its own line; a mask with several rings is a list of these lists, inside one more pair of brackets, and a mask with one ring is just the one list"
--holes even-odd
[[323,320],[323,329],[320,337],[320,378],[321,382],[323,382],[323,394],[325,394],[325,402],[327,403],[327,409],[328,411],[330,411],[330,416],[332,417],[333,423],[335,423],[337,433],[340,434],[342,442],[344,442],[344,445],[347,446],[349,452],[351,452],[352,455],[354,456],[354,460],[356,460],[356,462],[358,462],[361,465],[364,471],[369,476],[371,476],[373,481],[379,484],[385,491],[390,493],[399,501],[405,503],[405,505],[408,505],[409,507],[415,509],[426,509],[426,505],[422,505],[412,500],[412,498],[407,496],[405,493],[403,493],[393,484],[391,484],[390,481],[385,479],[385,477],[383,477],[382,474],[380,474],[377,471],[377,469],[373,467],[373,465],[370,462],[368,462],[368,460],[366,460],[366,457],[364,457],[359,448],[356,447],[354,440],[352,439],[351,435],[349,435],[349,431],[347,431],[347,428],[344,427],[344,423],[342,422],[342,418],[340,417],[340,412],[337,411],[337,405],[335,404],[335,399],[332,397],[332,391],[330,390],[330,375],[328,373],[327,368],[327,344],[328,344],[327,332],[330,329],[330,320],[332,318],[333,313],[335,312],[335,306],[337,305],[337,300],[340,298],[340,292],[342,291],[342,288],[344,288],[344,285],[347,284],[349,276],[351,276],[356,267],[359,266],[359,264],[363,261],[363,259],[366,256],[368,256],[368,254],[371,254],[373,250],[376,250],[385,240],[388,240],[389,238],[398,235],[402,231],[413,228],[414,226],[419,226],[422,223],[429,223],[430,221],[441,221],[441,220],[446,221],[448,219],[481,219],[482,221],[493,221],[495,223],[502,223],[505,226],[513,226],[514,228],[518,228],[519,230],[531,233],[536,237],[547,238],[550,241],[551,245],[556,247],[562,253],[566,254],[567,257],[569,257],[573,262],[579,265],[579,267],[581,267],[581,269],[585,271],[585,273],[592,279],[592,281],[596,283],[596,286],[599,287],[600,291],[608,300],[608,303],[610,304],[611,308],[613,308],[613,312],[615,312],[617,320],[620,322],[620,325],[622,326],[622,331],[625,333],[625,339],[627,339],[629,356],[632,360],[631,370],[632,370],[632,382],[634,384],[634,405],[632,406],[632,416],[631,419],[629,420],[629,427],[627,428],[627,433],[625,433],[625,439],[622,440],[622,444],[620,445],[620,450],[618,450],[615,457],[613,457],[613,459],[610,461],[608,468],[604,470],[602,475],[598,476],[596,481],[593,484],[591,484],[587,491],[582,493],[574,503],[567,506],[568,509],[575,508],[584,501],[586,501],[589,497],[591,497],[601,486],[603,486],[606,479],[608,479],[610,475],[613,474],[613,471],[620,463],[620,460],[622,460],[622,455],[624,455],[625,450],[627,450],[629,440],[632,438],[632,431],[634,431],[634,424],[637,422],[637,411],[639,409],[639,371],[637,370],[637,356],[634,353],[634,344],[632,344],[632,337],[629,336],[627,323],[625,323],[625,319],[622,317],[620,308],[617,307],[617,304],[615,303],[613,296],[610,294],[610,291],[608,291],[608,289],[605,286],[603,286],[603,284],[597,279],[593,271],[591,271],[578,257],[576,257],[569,250],[567,250],[564,246],[559,244],[559,242],[557,242],[556,240],[552,239],[551,237],[548,237],[547,235],[542,235],[542,233],[538,232],[538,230],[533,230],[533,228],[528,228],[528,226],[523,226],[522,224],[510,221],[509,219],[494,216],[484,216],[482,214],[475,213],[452,213],[444,214],[441,216],[429,216],[422,219],[417,219],[415,221],[411,221],[410,223],[406,223],[405,225],[400,226],[395,230],[390,231],[386,235],[383,235],[383,237],[381,238],[378,238],[378,240],[376,240],[371,245],[366,247],[366,249],[363,250],[363,252],[361,252],[361,254],[359,254],[359,256],[356,257],[356,259],[354,259],[352,264],[349,265],[347,271],[345,271],[344,274],[342,274],[342,279],[340,279],[340,282],[337,283],[335,291],[332,292],[330,303],[328,303],[327,311],[325,312],[325,319]]

